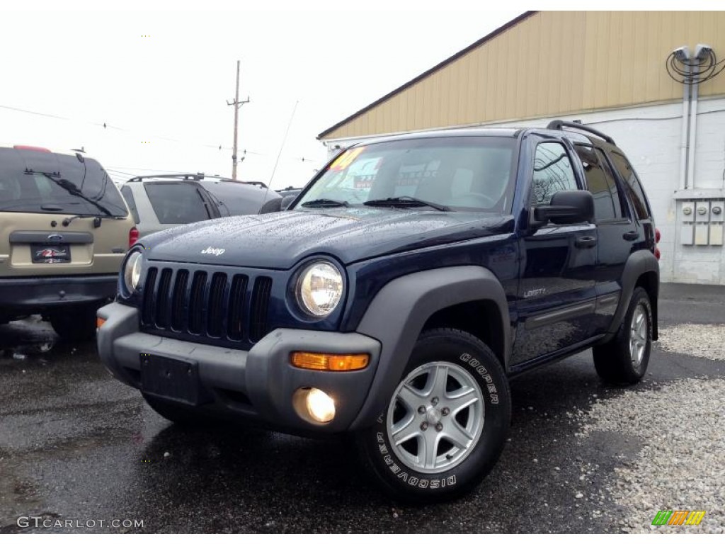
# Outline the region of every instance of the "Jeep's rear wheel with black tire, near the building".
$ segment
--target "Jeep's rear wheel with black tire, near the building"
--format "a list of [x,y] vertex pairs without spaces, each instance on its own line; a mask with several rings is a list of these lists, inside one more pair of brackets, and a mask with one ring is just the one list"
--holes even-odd
[[[632,321],[637,316],[645,319],[645,333],[643,337],[642,355],[638,357],[639,363],[634,360],[631,354],[630,340],[633,338]],[[597,369],[602,382],[614,385],[636,384],[645,376],[647,365],[650,362],[652,351],[652,305],[647,291],[637,287],[632,293],[629,301],[629,308],[624,314],[622,324],[613,339],[606,344],[592,348],[594,366]],[[639,339],[639,334],[636,335]]]

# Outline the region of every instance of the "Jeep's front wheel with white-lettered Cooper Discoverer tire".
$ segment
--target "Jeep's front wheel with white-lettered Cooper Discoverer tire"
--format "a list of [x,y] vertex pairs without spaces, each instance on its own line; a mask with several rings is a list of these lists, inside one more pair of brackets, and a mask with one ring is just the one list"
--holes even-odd
[[[443,381],[439,382],[444,383],[442,400],[438,397],[430,397],[428,400],[415,397],[416,402],[421,399],[421,406],[426,409],[424,415],[421,415],[423,412],[419,408],[408,413],[410,403],[391,399],[376,424],[356,432],[353,437],[363,463],[386,493],[410,503],[452,500],[468,493],[491,471],[508,436],[511,418],[508,379],[496,355],[488,346],[473,335],[456,329],[432,329],[423,332],[413,348],[393,398],[397,399],[398,391],[401,394],[405,391],[407,395],[415,390],[415,380],[423,380],[423,376],[423,390],[428,389],[431,379],[435,383],[435,368],[444,368]],[[423,374],[415,377],[420,372]],[[431,378],[431,375],[434,377]],[[409,382],[411,376],[413,379]],[[406,387],[401,390],[405,382],[409,382],[413,389]],[[456,382],[460,387],[456,386]],[[449,396],[448,393],[461,391],[465,387],[468,387],[471,394],[460,395],[459,398],[463,399],[465,396],[471,400],[471,404],[458,408],[457,414],[460,415],[457,415],[455,407],[446,406],[447,403],[455,403],[455,396]],[[413,395],[418,395],[423,390],[418,390]],[[431,388],[431,395],[435,391],[435,388]],[[437,412],[434,410],[436,407]],[[405,414],[402,419],[397,420],[401,411]],[[417,434],[420,434],[418,429],[421,429],[422,436],[399,442],[401,445],[392,445],[389,427],[400,426],[402,421],[408,419],[413,423],[404,428]],[[420,423],[418,419],[421,419]],[[426,423],[425,429],[423,421]],[[480,421],[481,424],[480,430],[474,435],[471,425],[475,421]],[[470,445],[461,448],[446,437],[448,433],[454,433],[463,426],[471,426],[467,432],[470,432],[468,437],[473,438]],[[438,432],[440,434],[436,434]],[[432,464],[428,467],[420,466],[423,471],[415,468],[413,453],[408,451],[412,447],[411,440],[415,440],[415,447],[418,448],[416,456],[421,453],[421,443],[428,445],[428,440],[432,440],[433,446],[429,448]],[[436,469],[436,463],[442,464],[442,467]]]

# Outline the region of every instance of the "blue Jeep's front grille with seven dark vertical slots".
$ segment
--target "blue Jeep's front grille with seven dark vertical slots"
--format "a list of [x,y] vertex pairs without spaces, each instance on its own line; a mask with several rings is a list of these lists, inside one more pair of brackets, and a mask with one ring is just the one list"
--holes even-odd
[[154,266],[142,292],[141,328],[162,336],[244,347],[270,330],[268,276]]

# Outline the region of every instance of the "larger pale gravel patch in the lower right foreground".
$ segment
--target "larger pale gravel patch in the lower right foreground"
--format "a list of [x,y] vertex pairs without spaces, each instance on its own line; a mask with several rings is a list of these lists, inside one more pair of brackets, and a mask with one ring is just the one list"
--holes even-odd
[[[585,437],[615,432],[642,449],[606,485],[624,532],[725,532],[725,379],[684,379],[595,400],[578,414]],[[704,510],[697,526],[652,526],[659,510]]]

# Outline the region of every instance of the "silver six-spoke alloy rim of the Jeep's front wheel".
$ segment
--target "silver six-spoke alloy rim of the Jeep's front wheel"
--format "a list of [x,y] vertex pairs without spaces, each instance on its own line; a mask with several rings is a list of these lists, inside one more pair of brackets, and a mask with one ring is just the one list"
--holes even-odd
[[444,361],[415,368],[398,384],[386,414],[388,440],[397,457],[418,472],[459,465],[484,428],[484,397],[476,379]]

